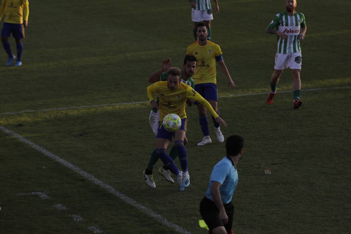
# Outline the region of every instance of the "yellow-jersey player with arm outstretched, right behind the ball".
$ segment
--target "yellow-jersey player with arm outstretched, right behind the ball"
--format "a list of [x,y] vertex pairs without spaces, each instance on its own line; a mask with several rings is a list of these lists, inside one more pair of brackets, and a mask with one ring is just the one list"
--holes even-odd
[[[163,168],[170,170],[177,176],[179,190],[183,191],[185,187],[190,185],[190,176],[188,173],[188,162],[186,158],[186,150],[184,147],[184,138],[186,133],[186,113],[185,102],[186,99],[195,100],[204,105],[208,111],[214,116],[218,123],[224,126],[227,124],[221,119],[218,114],[211,107],[199,93],[197,93],[190,86],[180,82],[181,71],[177,67],[168,69],[167,81],[159,81],[147,87],[147,95],[150,100],[151,108],[159,109],[160,120],[167,114],[177,114],[181,119],[181,127],[174,133],[174,145],[178,149],[178,157],[183,172],[180,172],[178,167],[174,164],[171,157],[167,154],[167,147],[172,138],[173,133],[167,132],[162,125],[159,124],[159,129],[156,136],[156,152],[157,156],[164,163]],[[159,105],[154,100],[154,93],[158,94]]]

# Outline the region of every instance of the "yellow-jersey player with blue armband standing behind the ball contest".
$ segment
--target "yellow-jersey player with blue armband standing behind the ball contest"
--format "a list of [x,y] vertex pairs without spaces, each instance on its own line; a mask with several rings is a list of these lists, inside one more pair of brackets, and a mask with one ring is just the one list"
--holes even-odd
[[[234,82],[229,75],[228,69],[224,64],[222,58],[222,51],[219,45],[208,41],[207,35],[208,31],[204,23],[200,23],[197,26],[197,35],[199,40],[190,46],[186,51],[187,54],[194,55],[197,60],[197,69],[192,76],[195,82],[195,91],[203,96],[216,111],[218,115],[219,111],[217,108],[218,95],[217,95],[217,85],[216,85],[216,62],[218,63],[222,73],[227,78],[227,84],[232,89],[234,88]],[[201,126],[201,131],[204,134],[204,138],[198,145],[206,145],[211,143],[210,132],[208,131],[208,120],[207,120],[207,108],[201,103],[195,102],[198,107],[199,112],[199,122]],[[214,132],[216,132],[217,140],[219,142],[224,141],[224,136],[219,128],[219,123],[212,118],[214,124]]]

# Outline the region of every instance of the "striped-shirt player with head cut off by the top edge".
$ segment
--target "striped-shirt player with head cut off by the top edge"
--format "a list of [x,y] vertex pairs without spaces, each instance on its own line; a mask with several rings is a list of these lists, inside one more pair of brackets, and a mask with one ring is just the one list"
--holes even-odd
[[[191,11],[191,19],[194,22],[193,34],[194,39],[197,41],[198,36],[197,25],[199,22],[204,21],[206,24],[208,35],[207,40],[211,40],[211,20],[213,20],[211,0],[189,0],[192,11]],[[219,13],[218,1],[214,0],[216,4],[216,13]]]

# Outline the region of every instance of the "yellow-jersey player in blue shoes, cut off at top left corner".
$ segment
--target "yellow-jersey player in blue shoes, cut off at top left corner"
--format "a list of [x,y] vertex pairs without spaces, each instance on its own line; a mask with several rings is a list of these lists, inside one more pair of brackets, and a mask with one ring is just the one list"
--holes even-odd
[[10,66],[12,61],[16,58],[12,54],[8,37],[14,36],[16,40],[17,61],[15,66],[21,66],[21,56],[23,51],[22,39],[24,39],[24,28],[28,26],[29,2],[28,0],[2,0],[0,8],[0,24],[2,15],[5,13],[4,26],[1,29],[1,42],[8,60],[6,66]]

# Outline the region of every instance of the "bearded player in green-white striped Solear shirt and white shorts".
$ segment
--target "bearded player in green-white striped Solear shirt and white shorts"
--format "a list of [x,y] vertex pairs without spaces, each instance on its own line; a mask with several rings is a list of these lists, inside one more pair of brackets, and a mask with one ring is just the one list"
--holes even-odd
[[[293,107],[302,106],[300,71],[302,54],[300,41],[305,38],[307,30],[305,16],[295,11],[296,0],[286,0],[286,11],[278,13],[266,29],[266,33],[277,34],[278,51],[274,64],[274,72],[271,76],[271,92],[267,97],[267,104],[273,102],[277,93],[277,84],[284,68],[291,69],[292,88],[294,91]],[[275,30],[276,28],[277,30]]]

